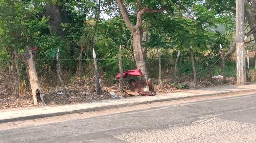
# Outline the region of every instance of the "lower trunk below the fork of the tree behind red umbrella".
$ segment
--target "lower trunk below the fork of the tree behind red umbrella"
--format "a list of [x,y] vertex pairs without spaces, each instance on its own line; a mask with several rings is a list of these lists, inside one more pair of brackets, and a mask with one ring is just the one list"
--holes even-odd
[[146,60],[144,59],[143,51],[142,51],[142,41],[141,41],[141,32],[138,29],[133,34],[133,53],[134,59],[136,61],[136,66],[141,70],[143,75],[141,76],[141,80],[147,81],[147,68],[146,68]]

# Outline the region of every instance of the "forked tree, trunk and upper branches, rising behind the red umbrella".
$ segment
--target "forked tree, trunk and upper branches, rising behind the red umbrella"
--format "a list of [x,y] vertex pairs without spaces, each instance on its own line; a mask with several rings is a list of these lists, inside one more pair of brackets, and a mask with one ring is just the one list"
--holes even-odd
[[[132,23],[130,17],[128,15],[128,8],[130,5],[124,5],[123,0],[117,0],[117,3],[120,8],[120,12],[122,17],[128,26],[132,38],[133,38],[133,53],[134,59],[136,60],[136,66],[143,73],[142,79],[147,79],[147,69],[146,69],[146,61],[144,58],[143,48],[142,48],[142,35],[145,29],[143,29],[143,15],[145,13],[161,13],[166,11],[166,14],[171,12],[174,13],[175,9],[177,11],[182,11],[187,5],[193,5],[194,0],[190,1],[179,1],[179,0],[137,0],[136,3],[136,11],[135,17],[136,23]],[[132,3],[132,2],[131,2]],[[132,13],[133,13],[132,12]]]

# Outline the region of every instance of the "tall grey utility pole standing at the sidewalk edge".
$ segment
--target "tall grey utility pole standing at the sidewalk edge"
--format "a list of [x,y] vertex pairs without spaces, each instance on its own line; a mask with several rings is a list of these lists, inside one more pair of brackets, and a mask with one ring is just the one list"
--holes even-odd
[[244,0],[236,0],[237,85],[246,84],[244,49]]

